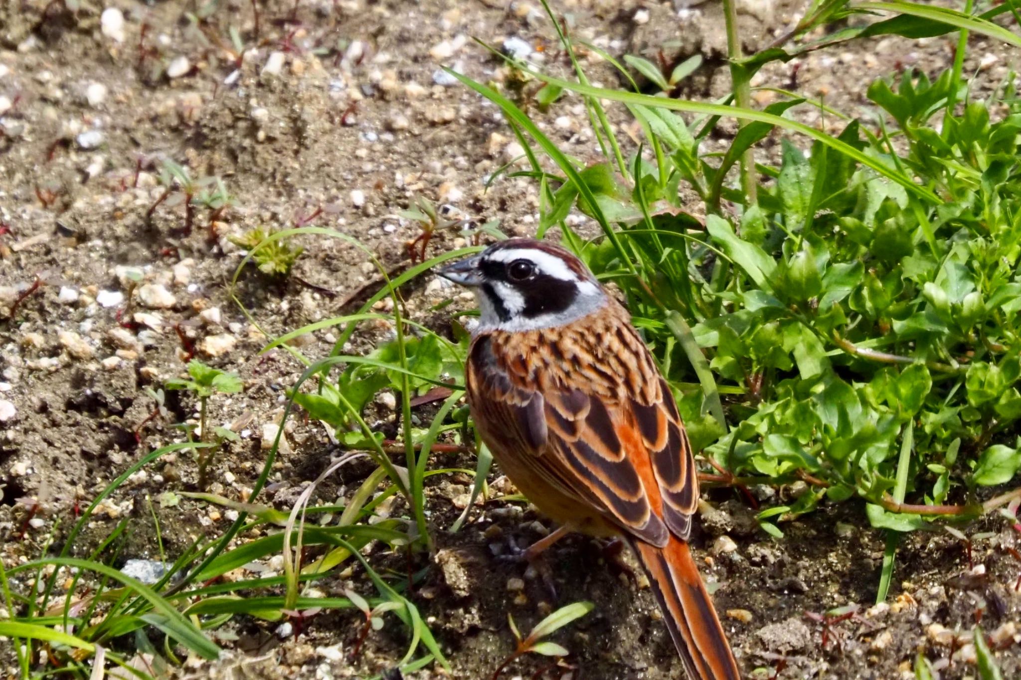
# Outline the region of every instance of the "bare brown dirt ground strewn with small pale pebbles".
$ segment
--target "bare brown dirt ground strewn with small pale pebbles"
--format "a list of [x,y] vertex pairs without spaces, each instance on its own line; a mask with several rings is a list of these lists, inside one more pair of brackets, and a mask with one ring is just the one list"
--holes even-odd
[[[501,116],[437,69],[449,64],[480,82],[503,80],[500,63],[472,38],[531,52],[530,59],[553,72],[565,68],[551,27],[531,1],[271,0],[257,3],[257,19],[252,3],[236,0],[108,1],[11,0],[0,7],[0,558],[7,566],[38,557],[48,536],[59,540],[59,527],[72,521],[80,502],[145,452],[180,439],[172,424],[195,414],[176,393],[167,396],[166,418],[138,428],[154,406],[145,388],[180,375],[192,348],[244,380],[242,394],[212,402],[212,420],[254,415],[241,444],[216,461],[210,490],[237,496],[250,488],[264,457],[262,425],[279,417],[284,390],[302,370],[286,353],[258,355],[263,333],[276,336],[349,313],[379,281],[353,246],[304,239],[305,252],[286,282],[242,275],[239,295],[249,319],[228,297],[242,258],[229,237],[287,228],[314,215],[308,223],[356,237],[399,271],[408,264],[404,244],[418,227],[396,213],[419,197],[480,223],[499,218],[507,233],[533,233],[534,182],[504,177],[485,187],[489,173],[520,154]],[[701,52],[706,62],[684,96],[714,99],[727,92],[720,10],[712,2],[682,9],[680,17],[670,3],[553,5],[576,37],[618,57]],[[747,0],[741,19],[747,46],[783,33],[798,9],[781,0]],[[837,110],[874,120],[865,98],[873,79],[904,67],[936,72],[950,63],[955,41],[863,41],[771,66],[757,84],[823,97]],[[980,38],[972,48],[965,70],[976,74],[973,96],[981,97],[1012,73],[1017,55]],[[594,55],[584,63],[594,83],[617,83]],[[760,106],[773,97],[756,93]],[[804,121],[820,123],[815,111],[798,110]],[[611,112],[622,138],[636,132],[625,111]],[[598,159],[578,98],[533,113],[569,154]],[[723,148],[733,129],[722,125],[709,150]],[[767,141],[767,154],[773,142]],[[186,233],[185,207],[174,197],[151,209],[163,193],[157,180],[162,158],[185,165],[193,178],[221,177],[232,205],[216,215],[197,209]],[[575,217],[584,231],[584,218]],[[431,252],[463,245],[457,233],[441,232]],[[435,327],[443,326],[445,312],[430,308],[456,295],[431,276],[405,293],[409,311]],[[4,318],[18,300],[14,318]],[[458,298],[455,304],[469,303]],[[387,324],[366,326],[350,350],[368,351],[391,334]],[[301,350],[322,357],[335,339],[320,331]],[[383,429],[394,431],[397,414],[385,400],[374,411]],[[312,425],[294,423],[287,437],[290,452],[262,496],[279,508],[290,507],[302,483],[336,453]],[[475,467],[463,458],[440,463]],[[367,472],[345,468],[319,489],[319,500],[342,496]],[[544,669],[546,660],[523,660],[504,677],[682,677],[648,589],[609,568],[593,541],[576,536],[551,551],[554,603],[540,579],[508,589],[523,568],[497,554],[509,541],[539,537],[543,520],[520,504],[494,502],[450,534],[470,483],[467,476],[447,477],[428,489],[440,553],[417,599],[451,661],[452,677],[492,675],[513,649],[508,612],[527,629],[550,606],[583,598],[595,610],[556,638],[573,652],[567,665]],[[191,460],[164,459],[101,506],[76,554],[101,540],[118,517],[147,517],[146,494],[194,486]],[[26,498],[42,509],[30,524],[19,501]],[[883,539],[867,528],[861,506],[847,503],[785,523],[785,536],[774,539],[758,531],[733,492],[715,490],[706,500],[707,526],[695,545],[703,573],[719,584],[718,610],[751,677],[908,678],[917,652],[936,662],[942,678],[973,677],[969,640],[979,619],[992,635],[1004,676],[1021,674],[1015,587],[1021,563],[1008,550],[1018,533],[1004,518],[962,527],[974,537],[970,555],[947,533],[910,536],[888,605],[870,608]],[[229,522],[227,514],[190,501],[157,511],[172,557]],[[149,523],[135,524],[123,559],[154,557]],[[25,538],[15,539],[22,527]],[[364,588],[357,570],[351,579]],[[323,585],[337,593],[343,587]],[[850,604],[861,610],[846,620],[812,616]],[[236,620],[231,658],[189,672],[271,678],[387,672],[406,643],[395,621],[370,636],[353,666],[322,651],[338,644],[349,649],[359,626],[360,615],[327,614],[306,622],[300,635],[280,635],[276,626]],[[0,675],[14,677],[4,644],[0,639]],[[440,675],[426,670],[408,677]]]

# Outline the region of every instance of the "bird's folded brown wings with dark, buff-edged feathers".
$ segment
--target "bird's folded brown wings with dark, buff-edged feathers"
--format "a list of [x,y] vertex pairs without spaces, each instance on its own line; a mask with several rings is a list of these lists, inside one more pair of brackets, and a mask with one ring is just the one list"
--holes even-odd
[[483,335],[469,358],[468,390],[500,448],[626,532],[662,547],[668,532],[688,537],[698,481],[673,396],[651,361],[642,363],[653,367],[640,376],[652,381],[644,397],[628,389],[610,397],[578,379],[540,388],[531,371],[497,361]]

